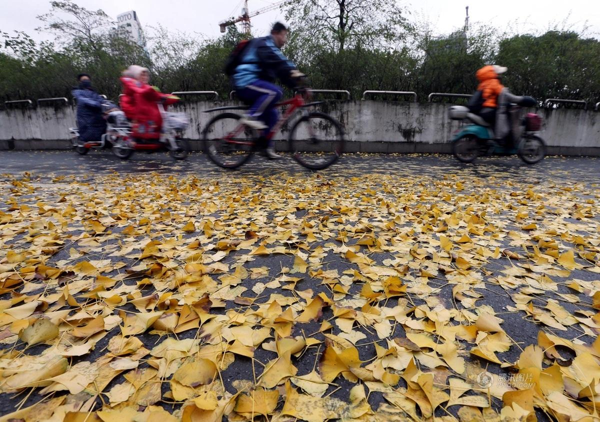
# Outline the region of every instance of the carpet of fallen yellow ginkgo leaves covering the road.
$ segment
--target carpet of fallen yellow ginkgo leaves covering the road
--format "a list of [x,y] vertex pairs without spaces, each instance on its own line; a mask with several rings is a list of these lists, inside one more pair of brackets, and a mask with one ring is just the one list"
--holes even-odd
[[10,177],[0,421],[600,420],[598,186],[438,176]]

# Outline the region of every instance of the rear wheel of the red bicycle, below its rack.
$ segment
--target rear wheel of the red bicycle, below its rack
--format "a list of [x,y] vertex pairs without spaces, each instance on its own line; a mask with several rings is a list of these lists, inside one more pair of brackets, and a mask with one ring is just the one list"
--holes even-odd
[[254,154],[254,129],[241,126],[242,116],[221,113],[212,118],[202,131],[204,149],[208,158],[222,168],[237,168]]

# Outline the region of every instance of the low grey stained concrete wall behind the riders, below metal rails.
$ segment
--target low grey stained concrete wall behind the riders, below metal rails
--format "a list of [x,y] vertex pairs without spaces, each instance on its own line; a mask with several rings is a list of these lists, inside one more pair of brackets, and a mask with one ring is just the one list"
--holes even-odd
[[[217,113],[203,113],[231,101],[178,104],[173,110],[190,117],[186,137],[200,139],[203,126]],[[318,110],[332,114],[346,128],[348,149],[365,152],[449,152],[448,141],[459,123],[448,120],[448,104],[386,101],[328,101]],[[542,109],[542,138],[549,153],[600,155],[600,113],[592,110]],[[68,128],[75,125],[72,106],[0,111],[0,149],[68,147]],[[287,126],[278,140],[287,138]],[[10,142],[9,142],[10,140]],[[194,143],[193,143],[194,144]],[[194,147],[199,147],[197,143]]]

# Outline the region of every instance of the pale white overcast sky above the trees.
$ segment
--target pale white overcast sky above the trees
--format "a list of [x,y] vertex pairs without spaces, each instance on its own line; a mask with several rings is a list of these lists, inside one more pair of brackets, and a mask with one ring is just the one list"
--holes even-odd
[[[390,0],[394,1],[394,0]],[[250,10],[274,4],[275,0],[250,0]],[[600,5],[598,0],[402,0],[412,19],[430,22],[437,34],[451,32],[464,23],[464,7],[469,5],[472,22],[484,22],[518,32],[543,31],[569,17],[576,30],[589,26],[589,35],[600,38]],[[196,32],[205,37],[220,35],[218,22],[239,14],[240,0],[76,0],[82,7],[101,8],[109,16],[137,11],[142,25],[161,23],[170,30]],[[595,5],[595,6],[593,6]],[[25,31],[35,40],[48,39],[47,34],[34,31],[40,23],[36,16],[50,9],[48,0],[0,0],[0,31]],[[569,16],[570,15],[570,16]],[[268,32],[269,24],[283,19],[279,10],[271,11],[253,19],[254,35]]]

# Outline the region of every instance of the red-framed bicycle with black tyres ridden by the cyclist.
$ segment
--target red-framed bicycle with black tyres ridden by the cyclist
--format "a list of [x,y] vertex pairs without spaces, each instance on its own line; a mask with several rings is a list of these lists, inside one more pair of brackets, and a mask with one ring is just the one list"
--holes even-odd
[[[277,125],[266,135],[270,141],[281,127],[298,110],[301,116],[293,122],[287,141],[292,157],[310,170],[322,170],[334,164],[344,151],[346,137],[342,125],[329,114],[307,111],[323,101],[306,103],[301,94],[282,101],[275,107],[287,107]],[[229,106],[206,110],[205,113],[223,110],[247,110],[249,107]],[[241,114],[226,112],[213,117],[202,131],[208,158],[222,168],[238,168],[248,162],[257,151],[259,134],[255,129],[240,123]],[[302,138],[302,139],[301,139]]]

